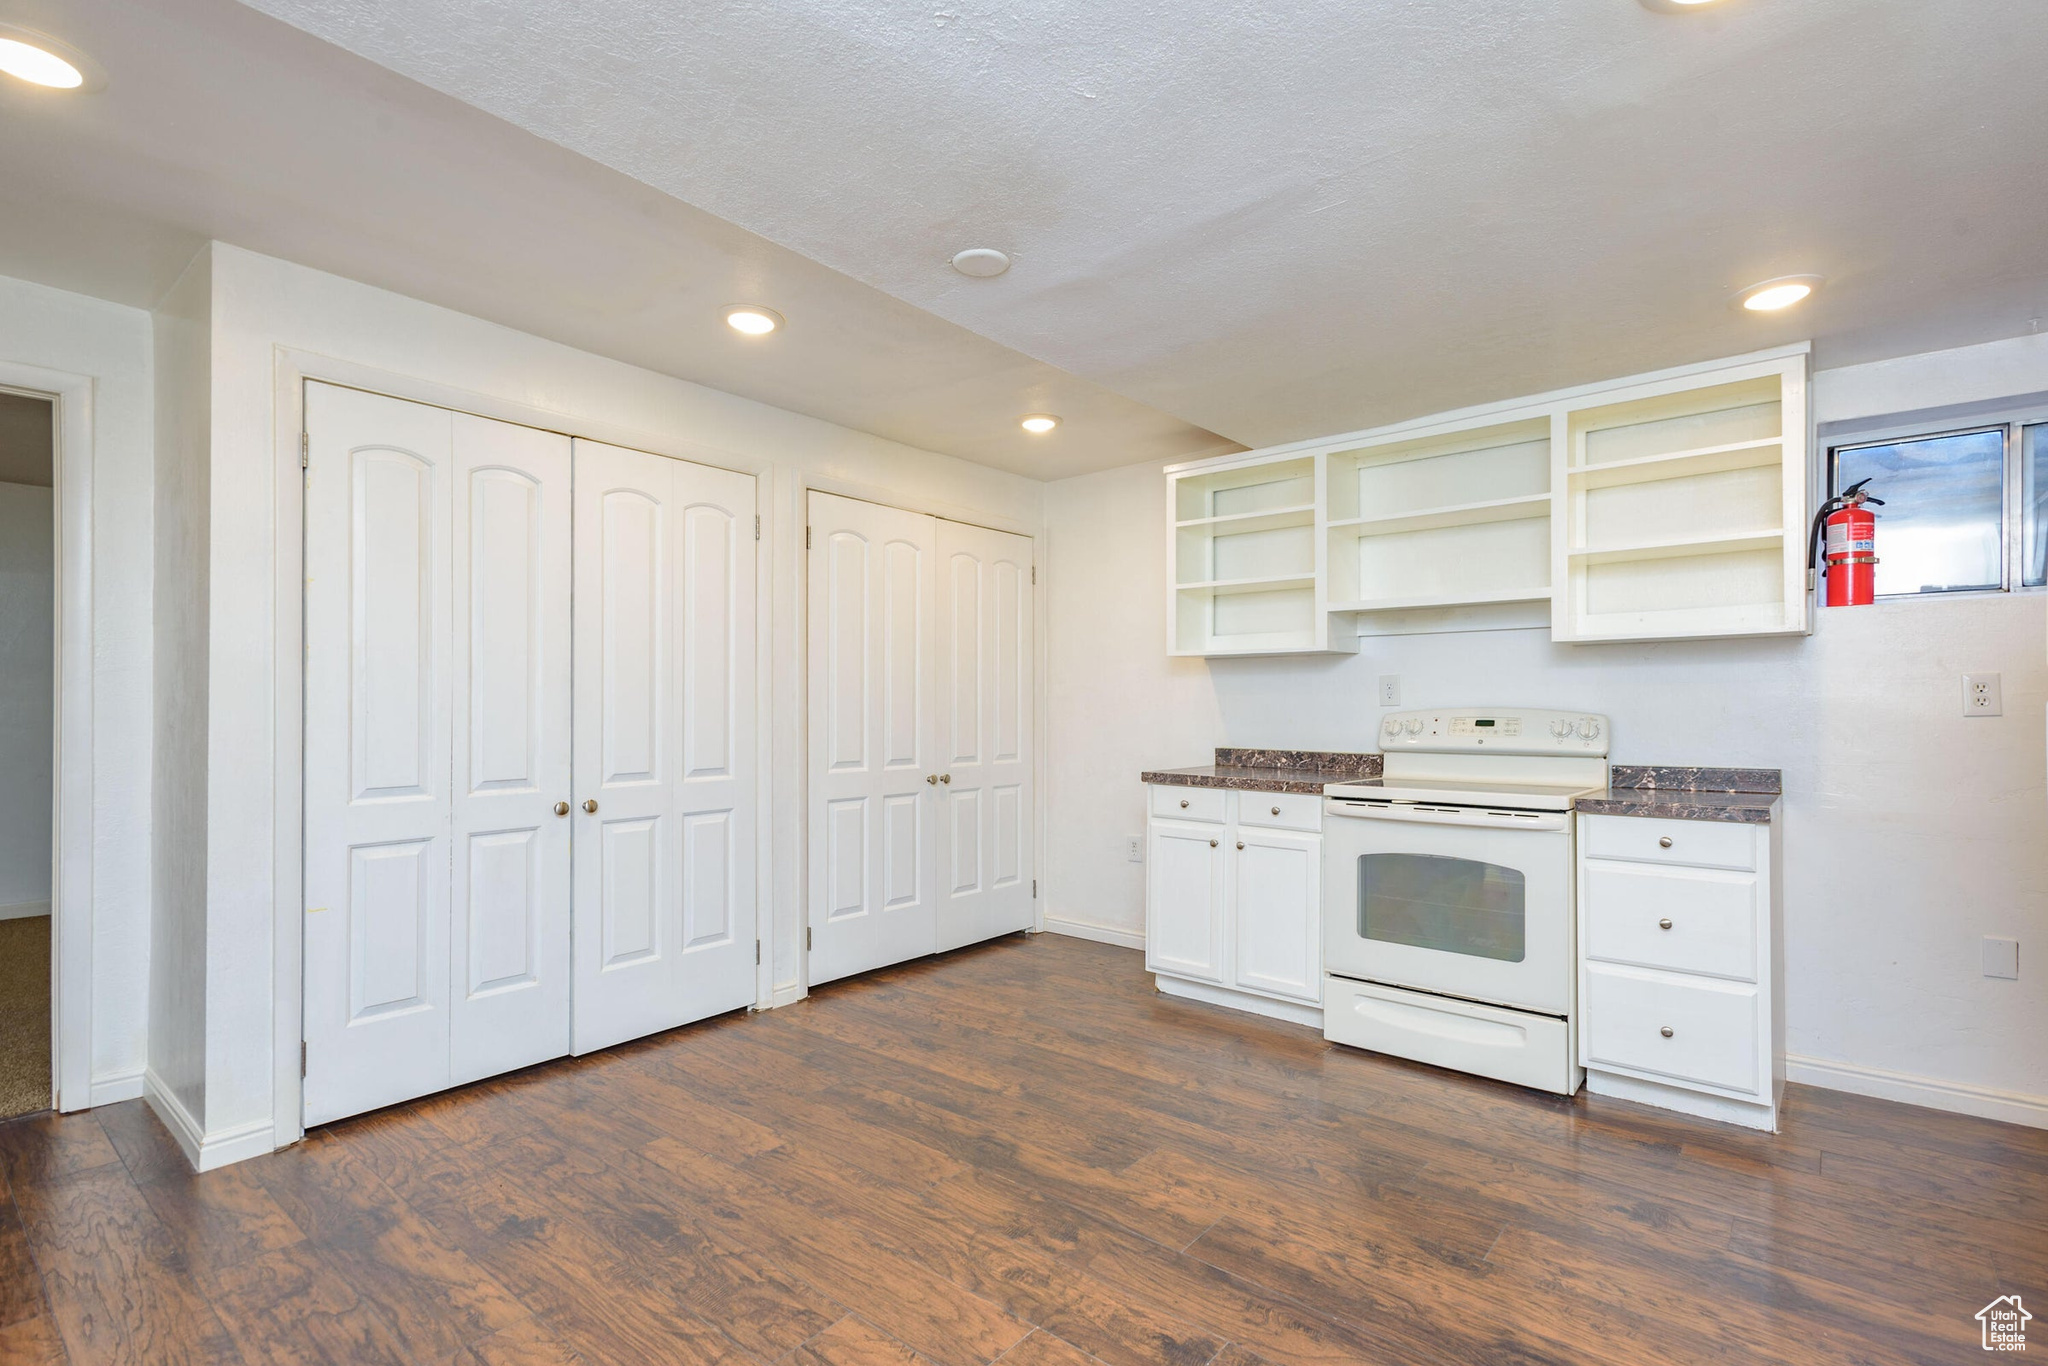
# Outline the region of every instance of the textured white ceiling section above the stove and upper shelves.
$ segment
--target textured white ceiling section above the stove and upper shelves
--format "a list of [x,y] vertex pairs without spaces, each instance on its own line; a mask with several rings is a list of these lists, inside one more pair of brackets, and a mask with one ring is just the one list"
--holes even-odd
[[2042,0],[254,2],[1251,444],[2048,293]]

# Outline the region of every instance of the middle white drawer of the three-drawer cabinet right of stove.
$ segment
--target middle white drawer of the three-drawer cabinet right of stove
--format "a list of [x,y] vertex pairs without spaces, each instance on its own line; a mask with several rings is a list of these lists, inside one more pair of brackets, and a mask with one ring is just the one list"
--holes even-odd
[[1585,956],[1757,979],[1757,874],[1587,858]]

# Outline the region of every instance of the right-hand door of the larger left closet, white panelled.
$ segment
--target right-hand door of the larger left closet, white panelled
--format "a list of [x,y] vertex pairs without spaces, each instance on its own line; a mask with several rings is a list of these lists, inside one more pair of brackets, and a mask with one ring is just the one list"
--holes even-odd
[[754,500],[575,442],[575,1053],[754,1004]]

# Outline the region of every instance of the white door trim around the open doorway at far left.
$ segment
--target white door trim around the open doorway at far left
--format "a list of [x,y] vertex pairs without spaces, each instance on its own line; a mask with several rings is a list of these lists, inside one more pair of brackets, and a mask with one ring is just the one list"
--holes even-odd
[[49,1094],[92,1104],[92,377],[0,360],[0,389],[51,403]]

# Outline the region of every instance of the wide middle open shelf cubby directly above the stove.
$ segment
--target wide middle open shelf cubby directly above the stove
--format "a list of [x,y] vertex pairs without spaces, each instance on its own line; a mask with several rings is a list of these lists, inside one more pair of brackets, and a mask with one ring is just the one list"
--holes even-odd
[[1333,451],[1329,608],[1550,596],[1548,416]]

